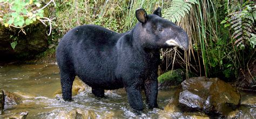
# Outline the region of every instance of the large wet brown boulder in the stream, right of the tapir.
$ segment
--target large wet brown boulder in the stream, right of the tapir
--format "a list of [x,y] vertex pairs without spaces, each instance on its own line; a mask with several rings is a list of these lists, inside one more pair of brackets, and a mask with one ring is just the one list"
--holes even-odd
[[230,84],[218,78],[195,77],[181,83],[174,94],[172,105],[182,111],[203,111],[208,115],[227,116],[240,106],[240,100],[240,93]]

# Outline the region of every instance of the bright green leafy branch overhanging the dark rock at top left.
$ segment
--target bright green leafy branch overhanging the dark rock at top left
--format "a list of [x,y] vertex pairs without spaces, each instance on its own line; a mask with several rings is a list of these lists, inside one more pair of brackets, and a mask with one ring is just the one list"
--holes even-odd
[[[53,0],[39,9],[42,4],[38,0],[0,0],[0,24],[5,27],[21,28],[21,31],[26,34],[23,29],[25,26],[35,23],[37,20],[46,25],[45,21],[48,21],[50,23],[51,33],[51,19],[44,17],[43,10],[51,2],[53,2]],[[50,33],[48,35],[50,35]],[[11,43],[13,49],[16,45],[17,41]]]

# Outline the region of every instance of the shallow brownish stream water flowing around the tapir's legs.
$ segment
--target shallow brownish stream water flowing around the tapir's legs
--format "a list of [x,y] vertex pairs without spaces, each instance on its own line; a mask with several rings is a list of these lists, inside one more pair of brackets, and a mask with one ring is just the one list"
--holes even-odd
[[[0,89],[14,92],[23,97],[22,103],[6,106],[4,115],[0,115],[0,118],[6,117],[6,115],[14,115],[21,111],[29,112],[27,118],[78,118],[77,112],[83,114],[83,116],[87,115],[88,117],[96,118],[194,118],[195,115],[200,115],[194,113],[168,113],[161,109],[148,110],[145,96],[143,96],[145,109],[142,115],[137,115],[133,113],[129,103],[127,103],[125,92],[105,91],[106,98],[99,99],[91,93],[90,87],[86,87],[84,92],[73,96],[73,102],[65,102],[60,98],[60,95],[56,95],[56,92],[60,90],[60,76],[56,63],[0,66]],[[174,95],[174,91],[158,92],[158,105],[160,108],[164,108],[169,102]],[[242,107],[244,108],[243,110],[238,110],[241,111],[239,117],[242,118],[249,112],[248,117],[251,115],[251,117],[255,118],[256,95],[246,92],[242,92],[241,95],[241,102],[246,105]],[[72,116],[72,114],[76,116]]]

